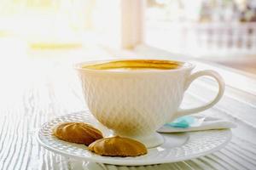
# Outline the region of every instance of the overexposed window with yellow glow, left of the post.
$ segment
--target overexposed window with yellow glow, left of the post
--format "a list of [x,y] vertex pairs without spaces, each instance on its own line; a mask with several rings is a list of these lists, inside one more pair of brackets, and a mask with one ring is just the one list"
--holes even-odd
[[30,48],[79,48],[119,37],[119,0],[3,0],[0,37]]

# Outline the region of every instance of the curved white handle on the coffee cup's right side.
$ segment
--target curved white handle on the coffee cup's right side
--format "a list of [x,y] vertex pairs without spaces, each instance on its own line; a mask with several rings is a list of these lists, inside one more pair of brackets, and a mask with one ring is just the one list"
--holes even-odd
[[193,113],[198,113],[201,111],[205,111],[209,108],[211,108],[213,105],[217,104],[219,99],[222,98],[223,94],[224,94],[224,80],[223,78],[218,74],[218,72],[216,71],[198,71],[195,72],[194,74],[190,75],[186,85],[185,85],[185,90],[187,90],[189,88],[189,85],[195,81],[196,78],[198,77],[212,77],[216,80],[216,82],[218,82],[218,94],[216,95],[216,97],[214,99],[212,99],[212,101],[208,102],[205,105],[201,105],[199,107],[195,107],[195,108],[191,108],[191,109],[179,109],[177,111],[177,116],[186,116],[186,115],[190,115]]

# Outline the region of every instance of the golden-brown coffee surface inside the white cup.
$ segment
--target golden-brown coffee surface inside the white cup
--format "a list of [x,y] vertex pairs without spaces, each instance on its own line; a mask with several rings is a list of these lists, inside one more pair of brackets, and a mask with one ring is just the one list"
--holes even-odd
[[172,60],[157,60],[157,59],[129,59],[129,60],[115,60],[104,62],[95,65],[83,65],[84,69],[92,70],[174,70],[181,68],[182,62]]

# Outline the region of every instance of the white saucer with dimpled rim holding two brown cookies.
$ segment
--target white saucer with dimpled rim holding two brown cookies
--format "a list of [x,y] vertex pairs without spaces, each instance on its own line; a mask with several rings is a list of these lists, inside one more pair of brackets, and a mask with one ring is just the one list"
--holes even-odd
[[52,135],[52,129],[60,122],[88,122],[101,129],[105,136],[111,135],[111,131],[96,122],[95,118],[90,116],[89,111],[82,111],[57,117],[50,122],[44,123],[38,132],[38,142],[44,148],[63,156],[84,161],[125,166],[169,163],[205,156],[223,148],[232,136],[229,129],[187,133],[161,133],[164,136],[165,143],[159,147],[148,149],[148,154],[145,156],[110,157],[91,153],[84,144],[73,144],[56,139]]

